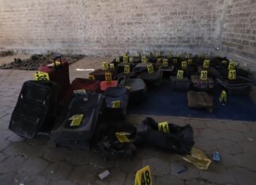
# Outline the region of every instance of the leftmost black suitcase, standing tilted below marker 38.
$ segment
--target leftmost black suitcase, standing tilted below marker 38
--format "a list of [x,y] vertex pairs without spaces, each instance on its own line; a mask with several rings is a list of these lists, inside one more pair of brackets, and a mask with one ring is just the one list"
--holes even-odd
[[26,139],[53,127],[59,87],[51,81],[26,81],[9,123],[9,130]]

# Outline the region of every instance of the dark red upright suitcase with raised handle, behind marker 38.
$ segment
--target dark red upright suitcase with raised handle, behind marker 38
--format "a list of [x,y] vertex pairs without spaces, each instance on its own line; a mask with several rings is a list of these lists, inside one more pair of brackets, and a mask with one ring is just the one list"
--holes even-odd
[[[59,65],[57,65],[57,61],[59,61]],[[40,66],[38,71],[47,72],[50,80],[60,85],[60,96],[62,96],[70,88],[69,64],[66,61],[62,61],[61,56],[54,58],[53,65]]]

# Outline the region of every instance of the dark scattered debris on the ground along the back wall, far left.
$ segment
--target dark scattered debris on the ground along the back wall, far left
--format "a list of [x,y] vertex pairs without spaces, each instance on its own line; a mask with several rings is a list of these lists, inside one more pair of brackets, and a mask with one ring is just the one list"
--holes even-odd
[[[34,54],[28,59],[24,59],[21,61],[20,58],[14,58],[14,61],[1,65],[0,68],[2,69],[19,69],[19,70],[37,70],[37,68],[40,67],[40,65],[49,65],[53,61],[52,59],[56,56],[54,53],[49,54]],[[80,60],[83,58],[84,55],[74,55],[74,54],[67,54],[62,55],[62,60],[67,61],[69,64],[73,64],[74,62]]]

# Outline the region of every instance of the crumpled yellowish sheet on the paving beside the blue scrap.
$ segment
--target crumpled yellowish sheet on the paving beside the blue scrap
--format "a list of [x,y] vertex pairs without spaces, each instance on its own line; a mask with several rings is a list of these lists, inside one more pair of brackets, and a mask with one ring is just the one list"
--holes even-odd
[[201,150],[194,147],[190,150],[190,155],[183,157],[183,160],[202,170],[207,170],[212,162]]

